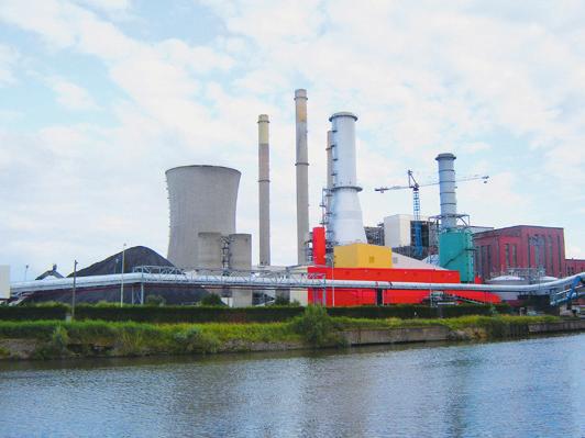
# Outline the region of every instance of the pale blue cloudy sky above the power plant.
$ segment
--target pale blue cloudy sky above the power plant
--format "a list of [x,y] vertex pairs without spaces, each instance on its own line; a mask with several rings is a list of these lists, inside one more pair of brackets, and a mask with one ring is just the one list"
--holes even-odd
[[[308,92],[310,222],[328,119],[358,116],[364,222],[457,156],[473,225],[565,229],[585,258],[585,2],[0,1],[0,263],[13,281],[128,246],[166,256],[165,170],[242,171],[257,261],[257,116],[271,117],[272,258],[296,263],[294,91]],[[423,215],[439,190],[421,189]]]

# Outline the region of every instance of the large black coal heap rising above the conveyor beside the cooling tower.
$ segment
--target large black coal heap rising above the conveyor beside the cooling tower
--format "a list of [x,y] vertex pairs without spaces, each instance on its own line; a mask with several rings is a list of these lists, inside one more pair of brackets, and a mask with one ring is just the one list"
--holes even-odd
[[[132,272],[137,266],[174,265],[158,252],[145,246],[134,246],[124,251],[124,272]],[[77,271],[77,277],[109,276],[120,273],[122,269],[122,251]],[[68,276],[73,277],[73,272]]]

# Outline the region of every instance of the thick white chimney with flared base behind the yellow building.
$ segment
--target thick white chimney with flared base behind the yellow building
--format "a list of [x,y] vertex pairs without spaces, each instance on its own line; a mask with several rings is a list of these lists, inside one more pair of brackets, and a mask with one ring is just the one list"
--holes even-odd
[[357,193],[362,190],[356,181],[355,121],[349,112],[333,114],[331,132],[332,200],[330,229],[335,245],[366,244],[362,207]]

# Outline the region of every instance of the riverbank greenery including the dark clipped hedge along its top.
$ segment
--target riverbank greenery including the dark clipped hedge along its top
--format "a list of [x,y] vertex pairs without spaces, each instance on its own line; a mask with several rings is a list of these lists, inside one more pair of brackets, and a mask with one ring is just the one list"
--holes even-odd
[[[0,358],[208,355],[343,348],[364,344],[505,339],[536,333],[585,329],[584,321],[495,314],[494,308],[487,306],[465,306],[462,307],[464,311],[457,312],[470,314],[442,318],[432,317],[429,307],[413,307],[417,306],[335,310],[338,315],[343,316],[332,316],[330,313],[335,312],[320,306],[256,307],[236,312],[222,307],[183,307],[183,314],[175,314],[175,322],[169,321],[173,313],[165,307],[86,306],[86,316],[81,321],[66,321],[68,307],[63,305],[32,306],[29,310],[21,307],[18,311],[4,307],[0,311]],[[101,318],[87,318],[91,312]],[[63,318],[46,318],[47,315],[60,313]],[[418,317],[426,313],[431,317]],[[82,315],[84,312],[77,314]],[[388,316],[391,314],[401,314],[402,317]],[[119,318],[125,321],[117,321]]]

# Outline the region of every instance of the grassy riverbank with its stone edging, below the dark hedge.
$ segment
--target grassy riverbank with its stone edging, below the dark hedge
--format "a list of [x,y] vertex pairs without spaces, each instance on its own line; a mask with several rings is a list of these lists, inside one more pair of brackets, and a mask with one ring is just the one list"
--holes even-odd
[[438,340],[489,340],[585,330],[553,316],[445,319],[331,317],[318,308],[290,322],[143,324],[103,321],[0,322],[0,359],[207,355]]

